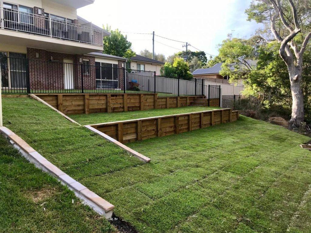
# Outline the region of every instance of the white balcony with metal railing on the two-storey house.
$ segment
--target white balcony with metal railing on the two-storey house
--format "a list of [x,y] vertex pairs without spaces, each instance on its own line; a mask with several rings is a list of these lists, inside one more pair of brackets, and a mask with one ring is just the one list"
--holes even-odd
[[[55,47],[66,53],[98,51],[103,47],[103,36],[107,35],[98,28],[63,22],[4,7],[0,8],[0,18],[0,39],[3,43],[14,41],[14,43],[19,42],[18,45],[35,48],[38,48],[36,45],[41,45],[44,47],[43,49],[53,49],[52,51],[55,51]],[[72,51],[70,47],[74,47],[77,51]]]

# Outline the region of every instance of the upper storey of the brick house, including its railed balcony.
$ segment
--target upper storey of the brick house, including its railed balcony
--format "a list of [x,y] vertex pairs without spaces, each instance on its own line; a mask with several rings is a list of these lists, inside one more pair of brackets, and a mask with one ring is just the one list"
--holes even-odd
[[[36,3],[37,2],[37,3]],[[93,3],[79,1],[0,0],[2,43],[44,48],[63,53],[90,53],[102,49],[108,32],[77,16],[77,8]]]

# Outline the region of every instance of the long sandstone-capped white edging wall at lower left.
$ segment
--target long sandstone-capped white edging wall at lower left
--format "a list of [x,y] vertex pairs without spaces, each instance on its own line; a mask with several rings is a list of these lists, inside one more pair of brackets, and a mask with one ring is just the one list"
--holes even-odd
[[85,205],[88,205],[100,215],[104,215],[107,219],[111,218],[114,205],[93,193],[78,181],[72,179],[72,177],[68,176],[65,172],[61,171],[58,167],[49,162],[8,128],[3,126],[0,127],[0,133],[9,139],[13,147],[18,149],[29,162],[35,164],[35,166],[39,169],[56,177],[63,185],[68,186],[68,188],[72,190]]

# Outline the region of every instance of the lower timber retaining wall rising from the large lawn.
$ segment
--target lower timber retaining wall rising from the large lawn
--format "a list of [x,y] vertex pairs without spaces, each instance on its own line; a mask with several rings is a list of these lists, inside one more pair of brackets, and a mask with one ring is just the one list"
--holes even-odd
[[179,134],[239,119],[239,111],[210,110],[91,125],[121,143]]

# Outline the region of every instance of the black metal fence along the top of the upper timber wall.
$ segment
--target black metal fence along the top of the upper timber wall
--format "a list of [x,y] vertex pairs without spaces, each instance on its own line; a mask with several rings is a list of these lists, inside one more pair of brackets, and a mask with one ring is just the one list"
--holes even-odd
[[[159,96],[194,96],[204,95],[205,92],[202,79],[169,78],[157,76],[152,71],[118,68],[117,64],[108,67],[92,63],[0,56],[2,93],[158,93]],[[215,95],[215,91],[211,86],[211,96]]]

